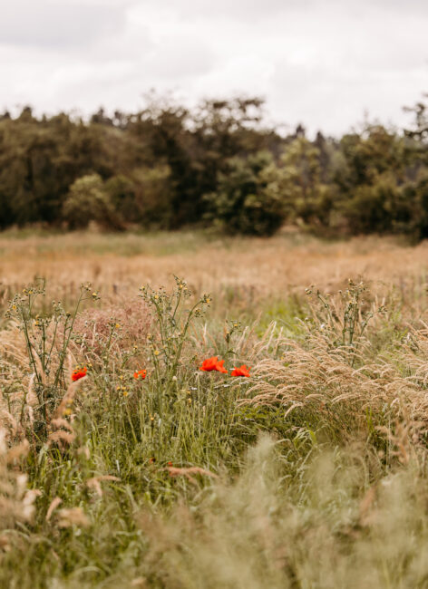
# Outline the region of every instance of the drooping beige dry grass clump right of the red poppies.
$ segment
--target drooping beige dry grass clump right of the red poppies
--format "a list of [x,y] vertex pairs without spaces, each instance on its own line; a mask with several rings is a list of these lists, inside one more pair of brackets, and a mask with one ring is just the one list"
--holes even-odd
[[[417,333],[414,341],[423,347],[426,333]],[[426,378],[428,362],[423,354],[404,346],[399,354],[374,358],[366,343],[355,368],[353,349],[332,348],[319,335],[304,344],[284,340],[282,345],[287,352],[281,361],[266,359],[255,366],[253,384],[241,405],[282,406],[285,419],[297,412],[297,422],[326,428],[342,443],[366,439],[372,414],[385,424],[417,423],[418,436],[426,435],[428,399],[421,375]]]

